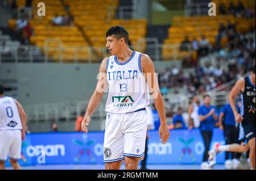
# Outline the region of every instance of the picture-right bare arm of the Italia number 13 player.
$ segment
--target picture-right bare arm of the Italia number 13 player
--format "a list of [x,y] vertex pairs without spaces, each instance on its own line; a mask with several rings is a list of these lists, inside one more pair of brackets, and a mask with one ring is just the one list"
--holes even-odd
[[158,78],[156,77],[154,63],[149,56],[142,54],[141,56],[141,68],[148,87],[154,99],[154,104],[160,118],[159,136],[163,144],[166,144],[170,132],[166,120],[166,112],[164,111],[163,97],[159,89]]

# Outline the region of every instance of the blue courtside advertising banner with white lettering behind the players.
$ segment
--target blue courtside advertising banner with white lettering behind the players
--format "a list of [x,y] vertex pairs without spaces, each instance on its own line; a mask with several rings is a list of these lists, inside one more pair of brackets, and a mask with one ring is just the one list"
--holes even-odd
[[[172,130],[168,142],[160,142],[157,131],[148,132],[148,164],[201,163],[204,144],[198,129]],[[225,144],[223,132],[214,129],[214,144]],[[104,132],[31,133],[22,143],[20,165],[39,164],[103,164]],[[224,153],[217,155],[217,163],[224,163]],[[7,165],[10,165],[7,162]]]

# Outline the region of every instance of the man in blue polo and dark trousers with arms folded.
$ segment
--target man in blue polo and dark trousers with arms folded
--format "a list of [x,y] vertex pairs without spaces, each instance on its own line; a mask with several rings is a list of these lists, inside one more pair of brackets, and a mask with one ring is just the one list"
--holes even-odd
[[212,141],[212,134],[214,124],[218,119],[216,109],[211,105],[211,99],[209,95],[204,95],[204,105],[199,107],[198,110],[199,119],[200,119],[200,132],[204,140],[204,154],[203,154],[203,163],[201,167],[206,167],[209,169],[210,165],[208,161],[208,151],[210,148],[210,142]]

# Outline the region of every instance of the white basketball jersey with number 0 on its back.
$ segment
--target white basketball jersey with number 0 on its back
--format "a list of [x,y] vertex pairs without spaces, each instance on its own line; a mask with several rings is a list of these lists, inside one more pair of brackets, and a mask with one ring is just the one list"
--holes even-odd
[[22,129],[18,107],[13,98],[0,98],[0,131],[8,129]]

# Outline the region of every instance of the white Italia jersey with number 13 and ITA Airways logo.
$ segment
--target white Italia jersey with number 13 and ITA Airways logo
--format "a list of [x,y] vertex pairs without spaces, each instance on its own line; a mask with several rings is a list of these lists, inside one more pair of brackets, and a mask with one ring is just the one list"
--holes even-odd
[[142,53],[133,52],[126,62],[118,62],[117,56],[107,60],[106,74],[109,95],[105,110],[109,113],[128,113],[146,108],[150,95],[146,78],[141,69]]

